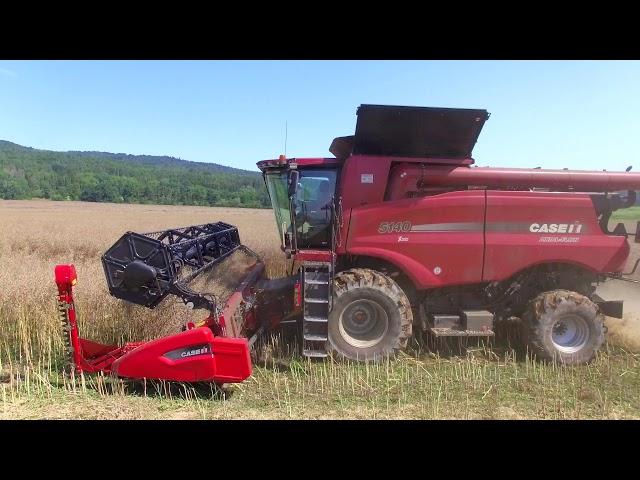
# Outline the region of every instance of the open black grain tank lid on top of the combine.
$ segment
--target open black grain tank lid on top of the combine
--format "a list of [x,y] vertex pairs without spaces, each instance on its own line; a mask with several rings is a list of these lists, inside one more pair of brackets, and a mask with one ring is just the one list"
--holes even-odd
[[486,110],[361,105],[356,134],[334,139],[329,151],[399,157],[469,158]]

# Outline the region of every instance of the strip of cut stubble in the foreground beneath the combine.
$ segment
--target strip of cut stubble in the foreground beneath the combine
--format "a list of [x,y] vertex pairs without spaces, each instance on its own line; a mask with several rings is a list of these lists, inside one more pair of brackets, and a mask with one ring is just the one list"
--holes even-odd
[[0,418],[637,418],[639,362],[615,347],[573,368],[484,348],[368,365],[294,358],[256,367],[225,391],[101,375],[70,381],[44,364],[14,365],[0,384]]

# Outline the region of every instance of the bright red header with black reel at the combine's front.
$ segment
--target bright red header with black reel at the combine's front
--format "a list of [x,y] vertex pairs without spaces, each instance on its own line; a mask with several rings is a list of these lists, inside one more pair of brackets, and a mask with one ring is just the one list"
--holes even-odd
[[[255,261],[222,304],[189,284],[241,251]],[[255,327],[255,289],[264,264],[240,243],[236,227],[209,223],[160,232],[127,232],[102,257],[107,284],[116,298],[155,308],[175,295],[209,315],[188,322],[180,333],[148,342],[104,345],[79,336],[73,265],[58,265],[60,314],[69,354],[78,372],[105,372],[133,379],[240,382],[251,375],[250,343],[242,334]]]

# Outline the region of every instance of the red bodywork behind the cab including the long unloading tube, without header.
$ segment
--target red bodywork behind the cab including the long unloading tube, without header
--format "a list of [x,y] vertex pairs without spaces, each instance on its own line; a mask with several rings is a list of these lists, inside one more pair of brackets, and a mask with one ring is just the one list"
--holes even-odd
[[[333,163],[289,162],[299,169],[318,164],[340,168],[337,197],[342,200],[343,223],[338,255],[383,259],[419,289],[503,280],[550,262],[620,272],[628,256],[627,239],[604,233],[590,196],[580,192],[640,190],[638,173],[472,168],[471,158],[350,155]],[[263,170],[271,166],[258,165]],[[534,187],[556,192],[531,191]],[[384,222],[475,228],[381,233]],[[574,222],[585,229],[580,235],[529,230],[534,223]],[[330,253],[298,252],[296,260],[327,261]]]

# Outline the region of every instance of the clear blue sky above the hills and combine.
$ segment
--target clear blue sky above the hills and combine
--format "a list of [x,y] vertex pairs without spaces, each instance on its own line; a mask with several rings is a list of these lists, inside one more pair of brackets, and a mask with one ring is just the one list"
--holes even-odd
[[638,61],[0,61],[0,139],[255,170],[361,103],[485,108],[479,165],[640,171]]

